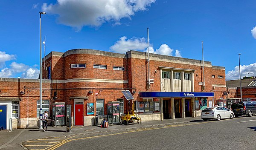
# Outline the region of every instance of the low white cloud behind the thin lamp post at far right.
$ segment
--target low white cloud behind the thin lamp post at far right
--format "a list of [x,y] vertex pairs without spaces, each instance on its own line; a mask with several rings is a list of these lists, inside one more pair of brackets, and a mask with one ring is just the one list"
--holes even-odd
[[[249,65],[241,65],[241,78],[247,77],[248,73],[253,76],[256,76],[256,63]],[[239,79],[239,66],[235,66],[234,70],[228,71],[226,74],[226,80],[236,80]]]

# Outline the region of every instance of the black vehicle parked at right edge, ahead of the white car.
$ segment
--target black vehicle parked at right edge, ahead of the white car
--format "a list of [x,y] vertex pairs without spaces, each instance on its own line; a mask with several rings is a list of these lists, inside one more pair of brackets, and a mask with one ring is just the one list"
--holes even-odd
[[252,116],[256,114],[256,101],[243,101],[231,104],[231,110],[234,112],[235,117],[240,115]]

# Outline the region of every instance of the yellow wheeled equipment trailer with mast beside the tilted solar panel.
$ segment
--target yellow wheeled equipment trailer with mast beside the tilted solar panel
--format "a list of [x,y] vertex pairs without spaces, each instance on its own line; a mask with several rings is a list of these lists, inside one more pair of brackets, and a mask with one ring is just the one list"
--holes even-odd
[[[138,106],[137,103],[138,103],[137,101],[134,101],[132,103],[132,114],[129,114],[129,110],[128,110],[128,114],[121,116],[120,125],[122,125],[122,124],[128,125],[129,123],[135,123],[136,120],[137,120],[138,124],[139,123],[141,124],[141,118],[137,117],[137,111],[138,111],[138,109],[136,107],[136,106]],[[135,112],[136,112],[136,116],[135,116]]]

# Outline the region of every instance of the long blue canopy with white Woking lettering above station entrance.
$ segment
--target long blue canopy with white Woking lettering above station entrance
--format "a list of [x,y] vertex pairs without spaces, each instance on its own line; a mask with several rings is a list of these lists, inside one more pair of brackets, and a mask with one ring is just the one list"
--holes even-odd
[[214,97],[214,92],[139,92],[140,98]]

